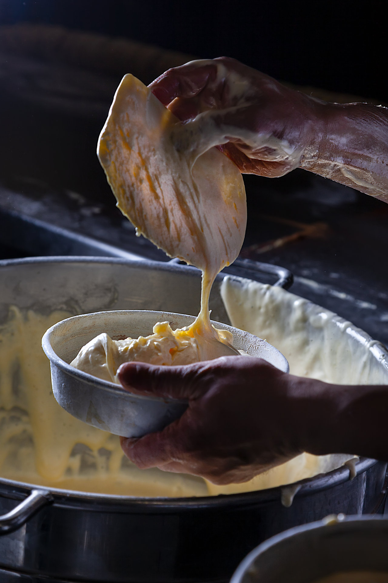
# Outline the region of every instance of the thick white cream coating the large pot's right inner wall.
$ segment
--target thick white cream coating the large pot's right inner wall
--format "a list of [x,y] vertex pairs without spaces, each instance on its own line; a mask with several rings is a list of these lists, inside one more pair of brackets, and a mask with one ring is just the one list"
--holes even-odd
[[232,325],[264,338],[289,361],[290,372],[336,384],[388,384],[386,349],[330,310],[281,287],[227,276],[220,290]]

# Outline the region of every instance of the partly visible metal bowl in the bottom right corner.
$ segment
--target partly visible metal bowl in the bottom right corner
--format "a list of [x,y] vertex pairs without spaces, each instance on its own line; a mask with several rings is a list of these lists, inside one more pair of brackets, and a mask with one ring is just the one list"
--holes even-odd
[[313,583],[339,571],[380,571],[388,577],[387,549],[387,519],[327,517],[259,545],[230,583]]

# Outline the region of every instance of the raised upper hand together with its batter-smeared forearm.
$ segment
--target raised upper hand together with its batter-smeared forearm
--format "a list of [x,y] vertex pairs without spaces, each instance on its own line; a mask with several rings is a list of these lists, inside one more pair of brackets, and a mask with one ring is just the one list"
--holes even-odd
[[183,122],[172,139],[195,159],[217,146],[245,174],[300,167],[388,202],[388,108],[326,103],[227,57],[191,61],[149,85]]

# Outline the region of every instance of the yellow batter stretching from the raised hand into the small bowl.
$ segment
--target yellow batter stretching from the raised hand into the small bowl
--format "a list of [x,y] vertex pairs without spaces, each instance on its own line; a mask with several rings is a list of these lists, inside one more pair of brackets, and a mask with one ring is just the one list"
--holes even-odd
[[243,178],[217,149],[198,157],[177,152],[172,132],[179,120],[133,75],[124,76],[101,132],[98,156],[118,206],[170,257],[202,271],[201,310],[187,328],[158,322],[147,338],[112,340],[101,334],[72,366],[118,382],[123,362],[189,364],[239,354],[230,333],[209,318],[209,294],[221,269],[239,255],[247,223]]

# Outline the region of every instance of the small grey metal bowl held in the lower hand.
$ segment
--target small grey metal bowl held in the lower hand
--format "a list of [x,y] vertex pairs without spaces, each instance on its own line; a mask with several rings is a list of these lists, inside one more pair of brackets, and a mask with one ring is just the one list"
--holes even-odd
[[[69,363],[87,342],[102,332],[113,339],[138,338],[152,333],[156,322],[168,321],[176,329],[189,326],[194,319],[172,312],[120,310],[74,316],[51,326],[42,338],[42,348],[50,361],[56,401],[77,419],[119,436],[141,437],[163,429],[184,413],[187,401],[133,395]],[[226,324],[212,324],[232,332],[233,345],[238,350],[289,372],[286,358],[265,340]]]

